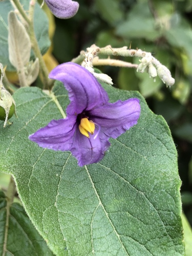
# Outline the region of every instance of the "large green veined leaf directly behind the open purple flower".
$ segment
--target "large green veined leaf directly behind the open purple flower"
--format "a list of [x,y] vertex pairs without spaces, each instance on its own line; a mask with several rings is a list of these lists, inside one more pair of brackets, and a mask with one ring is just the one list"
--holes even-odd
[[37,88],[15,93],[18,118],[1,125],[0,169],[13,174],[29,217],[57,255],[184,255],[181,181],[168,126],[139,93],[105,89],[111,101],[140,98],[141,115],[111,139],[101,162],[79,167],[70,152],[28,140],[62,118],[69,100],[58,83],[51,97]]

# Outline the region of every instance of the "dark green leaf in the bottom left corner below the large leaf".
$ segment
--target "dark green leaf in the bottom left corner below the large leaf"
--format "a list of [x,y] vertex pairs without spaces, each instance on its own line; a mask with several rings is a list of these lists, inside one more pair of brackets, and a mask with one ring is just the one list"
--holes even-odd
[[7,212],[7,199],[0,191],[1,255],[53,255],[20,204],[13,203],[9,207],[8,220]]

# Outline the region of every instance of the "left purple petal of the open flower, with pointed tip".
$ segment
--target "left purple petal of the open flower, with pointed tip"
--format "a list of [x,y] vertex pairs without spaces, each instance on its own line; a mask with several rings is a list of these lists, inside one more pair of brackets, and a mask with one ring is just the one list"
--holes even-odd
[[52,120],[47,126],[29,136],[29,139],[41,147],[52,150],[68,151],[74,143],[77,130],[76,118]]

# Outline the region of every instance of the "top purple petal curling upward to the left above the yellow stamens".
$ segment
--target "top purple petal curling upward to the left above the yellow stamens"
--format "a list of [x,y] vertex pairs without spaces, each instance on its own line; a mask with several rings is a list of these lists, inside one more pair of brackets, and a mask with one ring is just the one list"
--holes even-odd
[[53,69],[50,78],[61,81],[69,92],[67,114],[80,114],[109,101],[108,94],[96,78],[85,68],[73,62],[63,63]]

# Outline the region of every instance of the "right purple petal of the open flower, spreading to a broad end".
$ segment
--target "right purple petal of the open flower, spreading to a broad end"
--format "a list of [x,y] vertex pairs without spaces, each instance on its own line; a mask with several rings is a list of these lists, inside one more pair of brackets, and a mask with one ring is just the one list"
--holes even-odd
[[139,115],[140,104],[137,98],[108,102],[90,111],[90,119],[101,126],[101,132],[114,139],[135,125]]

